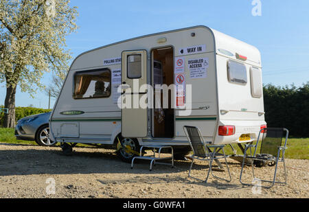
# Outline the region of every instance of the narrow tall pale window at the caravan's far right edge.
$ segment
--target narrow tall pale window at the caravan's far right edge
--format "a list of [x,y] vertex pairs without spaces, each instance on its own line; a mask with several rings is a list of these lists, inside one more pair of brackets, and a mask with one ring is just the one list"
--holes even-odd
[[250,75],[252,97],[260,98],[263,95],[262,71],[258,68],[251,67]]

